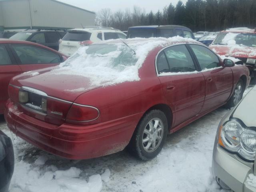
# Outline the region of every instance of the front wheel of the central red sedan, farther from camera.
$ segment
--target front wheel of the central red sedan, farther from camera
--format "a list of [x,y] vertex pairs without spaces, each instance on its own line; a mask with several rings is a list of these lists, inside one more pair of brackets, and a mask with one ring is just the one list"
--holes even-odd
[[240,79],[237,82],[234,93],[228,100],[226,107],[232,108],[232,107],[236,106],[236,104],[238,104],[240,102],[240,100],[243,98],[243,94],[244,94],[244,82]]

